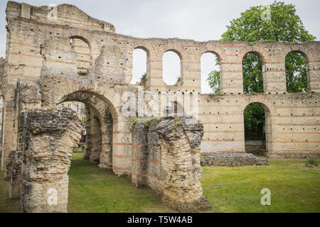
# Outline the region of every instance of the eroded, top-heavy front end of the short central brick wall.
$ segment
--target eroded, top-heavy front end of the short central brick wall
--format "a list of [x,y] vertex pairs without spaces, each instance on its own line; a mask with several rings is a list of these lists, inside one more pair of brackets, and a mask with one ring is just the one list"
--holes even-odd
[[201,187],[203,124],[194,118],[169,118],[161,121],[156,130],[166,172],[162,201],[180,211],[210,209]]

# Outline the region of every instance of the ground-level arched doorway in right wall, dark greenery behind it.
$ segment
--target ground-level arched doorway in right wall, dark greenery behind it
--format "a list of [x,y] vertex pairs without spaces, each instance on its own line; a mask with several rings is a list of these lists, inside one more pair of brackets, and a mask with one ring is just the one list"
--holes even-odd
[[266,153],[265,109],[257,103],[249,104],[244,111],[245,151],[255,155]]

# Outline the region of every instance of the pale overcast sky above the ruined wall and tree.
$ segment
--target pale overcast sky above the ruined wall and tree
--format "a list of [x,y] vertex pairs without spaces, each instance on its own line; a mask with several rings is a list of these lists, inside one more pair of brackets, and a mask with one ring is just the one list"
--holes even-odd
[[[320,1],[283,1],[296,6],[297,14],[302,19],[306,30],[319,40]],[[0,3],[0,57],[4,57],[6,51],[6,2],[1,0]],[[140,38],[178,37],[207,41],[219,40],[230,21],[238,18],[240,13],[249,9],[250,6],[271,4],[273,0],[24,0],[18,2],[33,6],[73,4],[94,18],[114,24],[117,33],[124,35]],[[172,59],[174,60],[174,57]],[[208,67],[206,70],[210,72]],[[141,74],[143,70],[140,71],[135,73]]]

